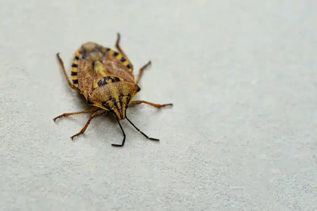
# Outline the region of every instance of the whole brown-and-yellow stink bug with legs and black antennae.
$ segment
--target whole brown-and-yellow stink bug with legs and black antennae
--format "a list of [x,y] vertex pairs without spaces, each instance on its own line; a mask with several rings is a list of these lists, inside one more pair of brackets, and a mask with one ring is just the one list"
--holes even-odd
[[141,90],[138,85],[140,78],[146,67],[151,64],[151,61],[139,69],[139,74],[135,80],[133,76],[133,65],[120,47],[120,33],[117,34],[115,47],[118,52],[94,42],[82,44],[81,47],[75,51],[73,64],[71,66],[73,84],[67,76],[59,53],[56,53],[68,85],[83,94],[87,100],[87,104],[92,107],[84,111],[64,113],[55,117],[53,120],[55,121],[58,118],[69,115],[92,113],[81,131],[71,137],[73,139],[85,132],[94,117],[106,114],[106,112],[109,111],[115,116],[124,136],[122,144],[112,144],[112,146],[124,145],[126,134],[120,124],[120,121],[124,119],[127,119],[130,124],[147,139],[159,141],[159,139],[150,138],[140,131],[126,117],[126,109],[128,106],[138,105],[140,103],[146,103],[156,108],[172,106],[173,104],[156,104],[144,100],[132,101],[133,97]]

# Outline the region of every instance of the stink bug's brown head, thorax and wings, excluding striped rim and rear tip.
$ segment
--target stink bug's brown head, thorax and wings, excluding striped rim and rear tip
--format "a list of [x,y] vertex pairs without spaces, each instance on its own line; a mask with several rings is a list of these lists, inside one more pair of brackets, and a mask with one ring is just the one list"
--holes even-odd
[[118,59],[106,58],[102,62],[80,60],[78,84],[89,105],[111,110],[123,120],[127,106],[141,89]]

